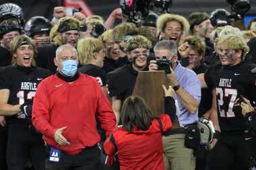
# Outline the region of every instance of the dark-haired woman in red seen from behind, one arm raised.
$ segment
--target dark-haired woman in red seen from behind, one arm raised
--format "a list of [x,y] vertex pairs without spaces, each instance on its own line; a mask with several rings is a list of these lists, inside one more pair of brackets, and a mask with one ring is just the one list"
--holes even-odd
[[[172,129],[176,114],[174,90],[163,85],[165,112],[157,118],[140,97],[125,99],[121,124],[104,142],[109,158],[118,155],[121,170],[164,170],[162,134]],[[110,159],[109,159],[110,160]]]

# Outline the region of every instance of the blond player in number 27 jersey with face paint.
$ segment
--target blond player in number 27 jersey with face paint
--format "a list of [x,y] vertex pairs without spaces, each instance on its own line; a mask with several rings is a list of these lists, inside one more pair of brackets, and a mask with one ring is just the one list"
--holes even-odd
[[[243,95],[256,101],[255,65],[244,62],[249,47],[234,34],[221,36],[217,43],[220,64],[205,72],[205,83],[212,90],[211,118],[218,136],[210,151],[210,169],[249,169],[251,145],[245,117],[234,105]],[[221,131],[221,132],[220,132]]]

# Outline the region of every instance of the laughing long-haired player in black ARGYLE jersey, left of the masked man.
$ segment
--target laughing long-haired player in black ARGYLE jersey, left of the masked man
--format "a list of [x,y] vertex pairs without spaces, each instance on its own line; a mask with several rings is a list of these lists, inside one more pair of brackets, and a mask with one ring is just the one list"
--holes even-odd
[[35,66],[36,46],[25,35],[11,44],[12,65],[0,75],[0,115],[8,124],[7,166],[23,169],[28,157],[36,170],[44,169],[44,140],[31,123],[32,101],[38,83],[50,71]]

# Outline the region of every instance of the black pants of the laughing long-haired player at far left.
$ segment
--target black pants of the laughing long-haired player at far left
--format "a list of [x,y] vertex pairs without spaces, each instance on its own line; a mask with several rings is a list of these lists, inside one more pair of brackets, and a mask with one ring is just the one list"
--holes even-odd
[[9,124],[7,142],[8,170],[23,170],[31,159],[35,170],[44,170],[44,140],[27,124]]

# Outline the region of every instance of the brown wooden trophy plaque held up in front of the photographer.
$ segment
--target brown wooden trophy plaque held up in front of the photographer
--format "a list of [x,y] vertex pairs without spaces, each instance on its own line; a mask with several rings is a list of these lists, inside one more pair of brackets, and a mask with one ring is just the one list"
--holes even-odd
[[164,71],[139,71],[133,88],[133,95],[143,98],[154,116],[164,113],[164,89],[166,85]]

